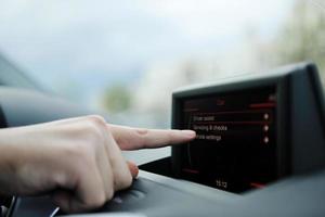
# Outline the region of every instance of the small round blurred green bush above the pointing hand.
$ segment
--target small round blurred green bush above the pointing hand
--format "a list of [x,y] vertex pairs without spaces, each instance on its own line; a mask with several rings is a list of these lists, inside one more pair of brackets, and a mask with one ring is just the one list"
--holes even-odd
[[130,90],[122,85],[112,86],[104,92],[102,102],[104,108],[112,113],[125,112],[131,104]]

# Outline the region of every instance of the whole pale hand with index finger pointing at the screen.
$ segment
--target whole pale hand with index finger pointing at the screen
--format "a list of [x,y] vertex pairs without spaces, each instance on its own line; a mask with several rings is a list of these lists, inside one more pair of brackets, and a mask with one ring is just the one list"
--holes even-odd
[[140,129],[84,116],[0,130],[0,194],[51,194],[64,212],[102,206],[131,186],[138,167],[121,150],[187,142],[192,130]]

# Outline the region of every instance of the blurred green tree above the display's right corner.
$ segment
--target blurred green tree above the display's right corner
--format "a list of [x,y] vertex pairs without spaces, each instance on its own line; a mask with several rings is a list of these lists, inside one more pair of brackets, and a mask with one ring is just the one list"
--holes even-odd
[[[296,0],[291,14],[269,47],[274,64],[313,61],[325,81],[325,11],[315,1]],[[264,56],[265,59],[265,56]]]

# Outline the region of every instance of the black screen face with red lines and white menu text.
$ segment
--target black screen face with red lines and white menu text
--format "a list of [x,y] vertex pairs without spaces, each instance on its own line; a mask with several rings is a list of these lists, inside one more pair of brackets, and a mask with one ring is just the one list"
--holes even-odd
[[183,153],[183,178],[232,192],[276,178],[275,87],[184,98],[180,108],[182,128],[197,133]]

